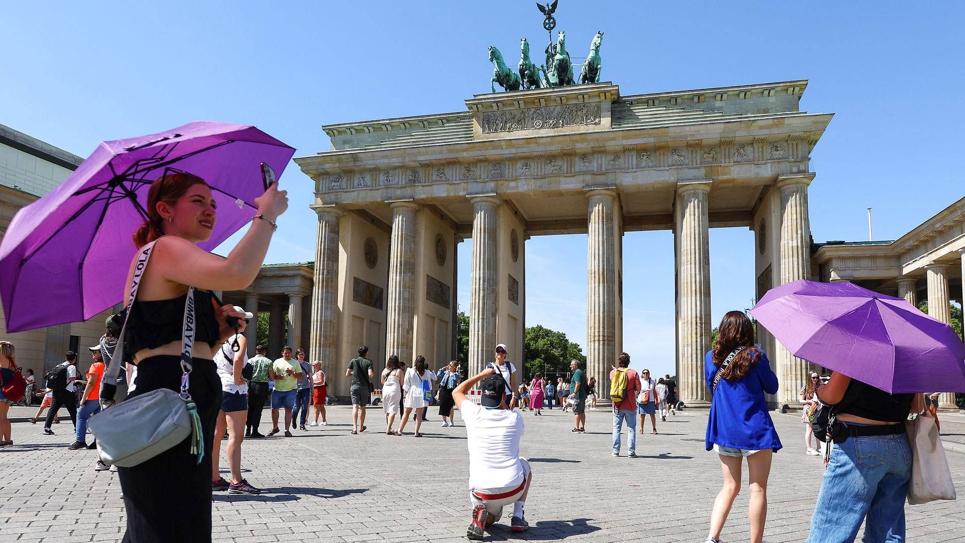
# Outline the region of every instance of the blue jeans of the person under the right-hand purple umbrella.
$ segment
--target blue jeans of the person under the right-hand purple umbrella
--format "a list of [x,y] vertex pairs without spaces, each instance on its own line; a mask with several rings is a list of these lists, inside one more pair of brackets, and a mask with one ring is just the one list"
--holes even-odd
[[814,506],[808,543],[854,541],[863,520],[864,541],[904,541],[911,461],[905,434],[835,443]]

